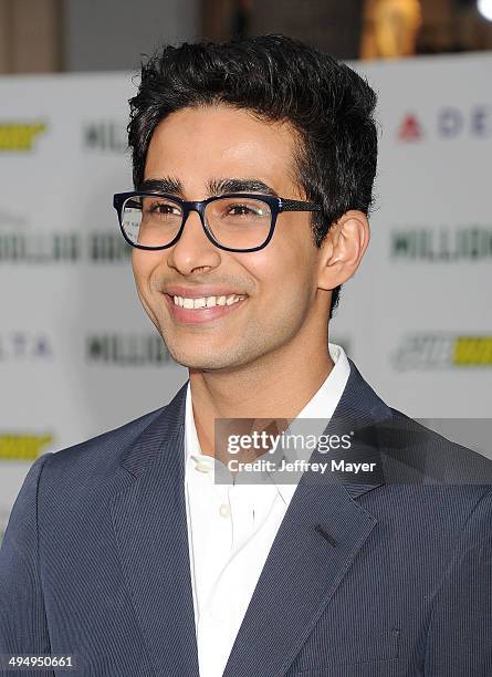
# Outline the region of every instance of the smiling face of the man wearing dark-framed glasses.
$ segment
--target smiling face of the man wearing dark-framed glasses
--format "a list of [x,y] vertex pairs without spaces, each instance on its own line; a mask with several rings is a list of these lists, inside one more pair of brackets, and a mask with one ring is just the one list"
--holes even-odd
[[[231,178],[260,180],[280,197],[304,200],[292,177],[296,144],[287,126],[259,122],[242,110],[185,108],[154,132],[145,179],[179,181],[178,197],[186,200],[210,197],[211,180]],[[317,293],[320,250],[310,217],[281,212],[269,244],[241,253],[214,247],[192,211],[174,247],[134,249],[139,298],[176,362],[197,369],[234,369],[275,351],[287,356],[306,326],[324,331],[329,294],[324,292],[321,300]],[[232,294],[244,299],[188,311],[172,300]]]

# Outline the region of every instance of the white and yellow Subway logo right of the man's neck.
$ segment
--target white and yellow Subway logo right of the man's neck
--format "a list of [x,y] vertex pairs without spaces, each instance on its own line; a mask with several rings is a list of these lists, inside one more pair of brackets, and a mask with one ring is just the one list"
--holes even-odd
[[492,335],[409,334],[391,362],[400,371],[491,367]]

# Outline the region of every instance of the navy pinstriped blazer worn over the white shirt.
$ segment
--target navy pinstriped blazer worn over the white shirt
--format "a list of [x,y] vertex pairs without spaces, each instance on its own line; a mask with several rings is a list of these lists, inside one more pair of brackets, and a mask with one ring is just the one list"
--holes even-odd
[[[185,396],[31,467],[0,550],[0,654],[77,667],[17,674],[198,677]],[[344,458],[381,472],[303,476],[224,677],[491,677],[491,464],[390,409],[352,361],[335,417],[368,430]]]

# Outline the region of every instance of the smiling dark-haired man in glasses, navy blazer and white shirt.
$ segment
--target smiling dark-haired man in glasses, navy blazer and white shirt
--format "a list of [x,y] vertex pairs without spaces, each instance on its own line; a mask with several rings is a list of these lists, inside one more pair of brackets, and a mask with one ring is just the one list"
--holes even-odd
[[[0,553],[0,653],[84,676],[491,675],[488,462],[326,350],[369,241],[374,92],[268,35],[164,49],[130,106],[136,189],[115,207],[189,383],[34,462]],[[270,431],[234,437],[254,465],[306,420],[332,446],[295,481],[239,481],[216,435]]]

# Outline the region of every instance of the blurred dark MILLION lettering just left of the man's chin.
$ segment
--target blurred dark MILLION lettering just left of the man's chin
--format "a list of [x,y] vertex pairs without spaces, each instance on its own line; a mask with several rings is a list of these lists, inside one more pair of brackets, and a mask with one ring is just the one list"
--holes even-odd
[[85,357],[90,364],[144,366],[171,361],[158,334],[91,334],[85,341]]

